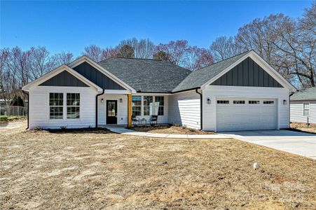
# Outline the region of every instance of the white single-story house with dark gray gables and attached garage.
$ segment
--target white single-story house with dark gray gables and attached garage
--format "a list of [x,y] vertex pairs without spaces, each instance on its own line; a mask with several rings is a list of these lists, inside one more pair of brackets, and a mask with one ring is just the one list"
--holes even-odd
[[289,127],[296,91],[254,51],[196,71],[154,59],[80,57],[22,87],[29,128],[131,125],[132,116],[201,130]]

